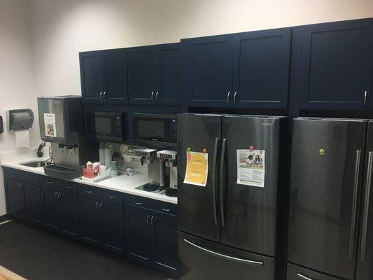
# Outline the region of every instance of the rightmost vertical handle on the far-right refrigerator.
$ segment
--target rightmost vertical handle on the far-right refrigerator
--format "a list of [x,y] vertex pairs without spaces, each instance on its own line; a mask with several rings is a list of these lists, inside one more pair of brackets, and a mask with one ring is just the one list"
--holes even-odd
[[365,261],[365,246],[367,245],[367,227],[368,227],[368,213],[370,201],[370,186],[372,183],[372,165],[373,165],[373,152],[368,153],[368,166],[367,175],[365,176],[365,195],[364,195],[364,210],[363,210],[363,225],[360,237],[360,260]]

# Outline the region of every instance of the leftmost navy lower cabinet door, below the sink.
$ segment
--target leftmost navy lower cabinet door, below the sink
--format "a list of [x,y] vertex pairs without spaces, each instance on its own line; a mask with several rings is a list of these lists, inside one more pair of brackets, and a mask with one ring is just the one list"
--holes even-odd
[[24,216],[24,194],[19,181],[6,179],[8,213]]

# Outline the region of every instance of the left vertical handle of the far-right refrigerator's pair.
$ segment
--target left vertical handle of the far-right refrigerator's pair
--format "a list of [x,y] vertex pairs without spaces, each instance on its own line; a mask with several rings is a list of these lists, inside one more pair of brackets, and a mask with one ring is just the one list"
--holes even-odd
[[356,151],[355,160],[355,176],[353,178],[353,198],[351,210],[351,226],[350,226],[350,242],[349,242],[349,258],[353,258],[353,245],[355,241],[355,224],[356,224],[356,207],[358,204],[358,186],[359,186],[359,171],[360,171],[360,154],[361,151]]

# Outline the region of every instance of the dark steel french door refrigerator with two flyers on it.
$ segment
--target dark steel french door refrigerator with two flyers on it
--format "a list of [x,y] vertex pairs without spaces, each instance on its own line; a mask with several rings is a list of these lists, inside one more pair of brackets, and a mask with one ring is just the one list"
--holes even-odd
[[[178,115],[179,279],[281,279],[276,243],[286,244],[282,218],[287,211],[277,193],[281,188],[286,192],[279,185],[281,160],[286,166],[280,156],[286,150],[281,148],[285,121],[275,116]],[[240,149],[265,151],[264,187],[237,183]],[[206,186],[184,183],[187,151],[207,153]]]

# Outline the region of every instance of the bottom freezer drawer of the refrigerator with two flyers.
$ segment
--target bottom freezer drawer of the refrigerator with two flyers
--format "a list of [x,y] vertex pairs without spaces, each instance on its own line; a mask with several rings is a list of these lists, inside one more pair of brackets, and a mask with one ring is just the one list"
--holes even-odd
[[221,246],[179,232],[180,280],[275,280],[273,258]]

